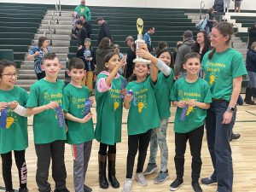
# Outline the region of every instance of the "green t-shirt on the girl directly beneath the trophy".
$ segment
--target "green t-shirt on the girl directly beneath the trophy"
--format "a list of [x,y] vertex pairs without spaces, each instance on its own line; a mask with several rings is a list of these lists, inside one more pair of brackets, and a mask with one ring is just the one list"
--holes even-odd
[[150,77],[140,83],[132,81],[127,84],[126,90],[133,91],[136,102],[130,102],[127,122],[128,136],[145,133],[160,126],[160,118],[154,96],[155,89],[156,86]]

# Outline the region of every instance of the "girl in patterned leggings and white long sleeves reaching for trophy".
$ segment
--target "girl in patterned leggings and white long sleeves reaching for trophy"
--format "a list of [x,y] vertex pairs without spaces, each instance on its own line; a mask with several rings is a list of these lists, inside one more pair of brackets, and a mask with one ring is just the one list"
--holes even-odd
[[[145,44],[145,46],[147,46]],[[170,177],[168,173],[168,146],[166,143],[166,131],[169,123],[170,113],[170,92],[173,84],[173,71],[170,67],[172,63],[172,54],[168,49],[161,49],[158,55],[154,57],[150,53],[143,51],[143,58],[150,59],[152,63],[160,69],[158,73],[157,89],[155,90],[154,96],[160,116],[160,127],[153,129],[150,139],[150,157],[148,166],[144,175],[149,175],[157,171],[156,166],[156,154],[158,145],[160,146],[160,172],[154,179],[155,184],[165,183]]]

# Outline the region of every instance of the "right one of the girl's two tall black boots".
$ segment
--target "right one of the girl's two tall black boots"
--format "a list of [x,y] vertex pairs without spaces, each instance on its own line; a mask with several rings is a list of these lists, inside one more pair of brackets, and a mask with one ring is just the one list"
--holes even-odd
[[119,188],[119,181],[115,177],[115,154],[108,154],[108,180],[114,189]]

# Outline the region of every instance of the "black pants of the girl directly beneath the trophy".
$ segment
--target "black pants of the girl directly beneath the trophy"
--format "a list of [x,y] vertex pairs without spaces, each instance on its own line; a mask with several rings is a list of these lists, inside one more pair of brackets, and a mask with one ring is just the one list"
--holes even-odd
[[133,166],[137,150],[137,172],[143,172],[143,166],[147,157],[148,145],[150,142],[151,130],[145,133],[128,136],[128,154],[126,163],[126,178],[132,177]]

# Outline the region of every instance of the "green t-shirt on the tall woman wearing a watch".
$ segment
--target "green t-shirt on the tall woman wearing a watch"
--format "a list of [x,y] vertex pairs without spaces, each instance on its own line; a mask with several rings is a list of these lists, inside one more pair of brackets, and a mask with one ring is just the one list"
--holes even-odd
[[209,53],[210,51],[203,57],[202,70],[205,71],[205,79],[210,84],[212,98],[230,101],[233,79],[247,74],[242,55],[230,48],[222,53],[215,52],[209,60]]

